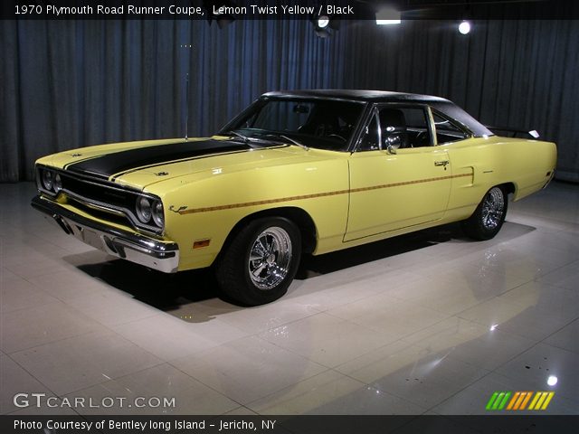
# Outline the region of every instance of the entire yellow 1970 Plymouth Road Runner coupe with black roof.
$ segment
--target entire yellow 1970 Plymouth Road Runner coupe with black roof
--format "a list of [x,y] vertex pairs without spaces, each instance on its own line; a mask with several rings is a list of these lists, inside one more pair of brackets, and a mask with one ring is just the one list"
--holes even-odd
[[555,144],[497,137],[447,99],[374,90],[262,95],[214,137],[90,146],[36,162],[33,207],[110,255],[213,266],[245,305],[286,293],[300,255],[448,222],[494,237],[555,172]]

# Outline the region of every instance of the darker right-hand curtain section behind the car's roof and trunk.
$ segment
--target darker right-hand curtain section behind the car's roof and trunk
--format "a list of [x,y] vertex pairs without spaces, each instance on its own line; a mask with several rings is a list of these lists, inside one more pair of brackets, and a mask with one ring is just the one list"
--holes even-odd
[[468,35],[353,24],[346,48],[344,87],[439,95],[486,125],[536,129],[558,145],[557,177],[579,182],[579,21],[475,21]]

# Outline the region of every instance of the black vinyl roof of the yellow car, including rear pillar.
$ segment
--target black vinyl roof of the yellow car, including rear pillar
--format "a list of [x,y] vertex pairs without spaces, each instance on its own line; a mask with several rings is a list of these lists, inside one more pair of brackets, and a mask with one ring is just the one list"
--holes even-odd
[[268,92],[261,98],[316,98],[316,99],[343,99],[361,102],[398,102],[427,104],[443,115],[459,121],[463,126],[470,129],[475,137],[494,136],[489,128],[482,125],[469,113],[460,109],[449,99],[418,93],[391,92],[387,90],[280,90]]

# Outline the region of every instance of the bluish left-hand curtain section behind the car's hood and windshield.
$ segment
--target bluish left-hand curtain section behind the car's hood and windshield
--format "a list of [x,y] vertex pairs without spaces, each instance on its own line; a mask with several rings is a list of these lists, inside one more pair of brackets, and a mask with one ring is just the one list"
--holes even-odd
[[99,143],[211,135],[267,90],[337,88],[343,38],[305,21],[0,22],[0,180]]

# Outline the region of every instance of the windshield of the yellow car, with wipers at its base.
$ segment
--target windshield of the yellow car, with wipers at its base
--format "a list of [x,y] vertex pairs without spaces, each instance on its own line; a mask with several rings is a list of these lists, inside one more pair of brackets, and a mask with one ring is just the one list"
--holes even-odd
[[280,141],[346,151],[363,109],[362,103],[331,99],[260,99],[220,134],[258,145]]

